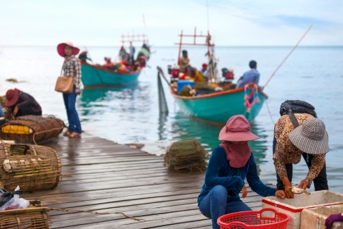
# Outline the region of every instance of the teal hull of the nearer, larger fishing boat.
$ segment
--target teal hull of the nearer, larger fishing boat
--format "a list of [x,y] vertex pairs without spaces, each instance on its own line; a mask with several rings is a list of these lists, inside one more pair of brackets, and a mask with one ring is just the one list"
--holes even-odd
[[252,122],[259,114],[265,100],[264,96],[258,94],[259,103],[255,102],[248,113],[244,105],[245,92],[243,88],[197,97],[179,96],[173,90],[171,90],[171,94],[186,115],[216,123],[226,123],[228,118],[237,114],[244,115],[247,120]]

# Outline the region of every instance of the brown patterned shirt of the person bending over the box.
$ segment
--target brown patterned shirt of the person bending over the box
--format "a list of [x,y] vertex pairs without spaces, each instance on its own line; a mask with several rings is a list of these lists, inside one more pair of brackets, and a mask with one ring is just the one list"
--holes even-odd
[[[308,113],[295,113],[295,118],[297,118],[299,125],[302,125],[309,118],[313,118],[313,116]],[[302,158],[303,151],[295,147],[295,145],[292,144],[292,142],[288,138],[288,134],[294,129],[295,128],[292,125],[292,122],[288,115],[281,116],[274,128],[276,147],[275,153],[273,154],[273,161],[276,172],[280,176],[281,180],[283,178],[287,178],[285,164],[297,164]],[[309,185],[307,187],[311,187],[312,180],[318,176],[324,164],[325,154],[313,154],[311,167],[309,168],[309,173],[307,173],[306,175],[306,180],[309,181]]]

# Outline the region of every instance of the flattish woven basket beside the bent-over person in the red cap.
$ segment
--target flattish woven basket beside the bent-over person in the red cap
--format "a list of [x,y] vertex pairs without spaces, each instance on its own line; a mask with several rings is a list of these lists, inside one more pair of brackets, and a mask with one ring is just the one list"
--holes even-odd
[[53,116],[20,116],[1,125],[0,137],[1,140],[37,144],[58,136],[64,127],[63,120]]

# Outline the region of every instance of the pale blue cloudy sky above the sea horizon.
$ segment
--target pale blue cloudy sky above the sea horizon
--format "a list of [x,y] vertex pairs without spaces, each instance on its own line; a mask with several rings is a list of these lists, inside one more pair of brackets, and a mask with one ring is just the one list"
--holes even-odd
[[178,35],[212,35],[216,46],[343,45],[342,0],[0,0],[0,47],[120,46],[147,35],[173,46]]

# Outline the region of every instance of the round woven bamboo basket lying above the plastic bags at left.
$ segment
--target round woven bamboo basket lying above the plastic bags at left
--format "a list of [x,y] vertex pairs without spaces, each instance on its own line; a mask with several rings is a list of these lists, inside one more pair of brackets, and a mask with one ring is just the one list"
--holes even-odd
[[61,178],[61,163],[50,147],[0,142],[0,173],[5,190],[51,190]]

